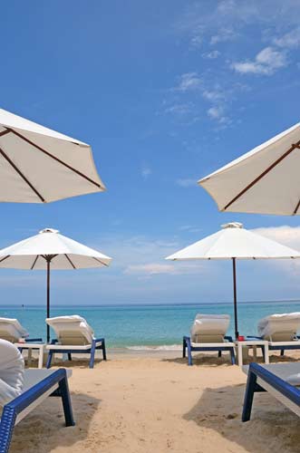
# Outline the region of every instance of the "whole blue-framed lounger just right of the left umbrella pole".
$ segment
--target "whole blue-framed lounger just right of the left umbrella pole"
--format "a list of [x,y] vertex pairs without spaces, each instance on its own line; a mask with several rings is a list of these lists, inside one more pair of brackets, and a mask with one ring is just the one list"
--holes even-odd
[[106,361],[106,348],[104,338],[95,338],[92,327],[84,318],[74,314],[73,316],[58,316],[47,318],[48,323],[57,338],[46,346],[48,360],[46,367],[51,367],[53,354],[67,353],[69,360],[72,360],[73,353],[90,354],[89,367],[93,368],[95,352],[102,350],[103,360]]

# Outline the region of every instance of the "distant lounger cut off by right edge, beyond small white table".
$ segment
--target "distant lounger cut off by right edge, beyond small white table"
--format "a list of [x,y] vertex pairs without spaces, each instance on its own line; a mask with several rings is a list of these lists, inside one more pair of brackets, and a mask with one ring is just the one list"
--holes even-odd
[[259,321],[255,338],[267,340],[269,351],[280,351],[284,355],[285,350],[300,349],[299,330],[300,313],[272,314]]

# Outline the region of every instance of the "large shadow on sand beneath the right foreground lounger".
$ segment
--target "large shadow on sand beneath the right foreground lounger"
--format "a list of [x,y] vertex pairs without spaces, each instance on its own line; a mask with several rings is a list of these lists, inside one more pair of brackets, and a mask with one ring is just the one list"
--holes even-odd
[[[271,362],[279,361],[295,359],[272,355]],[[241,421],[245,388],[245,384],[238,384],[203,390],[184,419],[237,444],[232,451],[243,448],[249,453],[299,452],[299,418],[268,393],[256,393],[251,420]]]

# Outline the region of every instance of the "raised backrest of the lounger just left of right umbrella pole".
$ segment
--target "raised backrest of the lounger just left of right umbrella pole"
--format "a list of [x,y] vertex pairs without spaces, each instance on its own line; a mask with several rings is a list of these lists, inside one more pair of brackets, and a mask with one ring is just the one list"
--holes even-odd
[[230,323],[228,314],[198,313],[190,330],[192,342],[224,342]]

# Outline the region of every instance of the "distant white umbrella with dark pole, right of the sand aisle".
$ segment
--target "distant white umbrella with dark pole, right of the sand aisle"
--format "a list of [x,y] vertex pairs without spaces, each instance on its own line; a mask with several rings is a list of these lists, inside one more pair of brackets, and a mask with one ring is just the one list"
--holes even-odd
[[282,246],[276,241],[257,235],[244,229],[242,224],[233,222],[222,226],[214,235],[187,246],[166,259],[231,259],[233,266],[233,295],[235,313],[235,333],[238,337],[237,325],[237,259],[271,259],[299,258],[300,252]]

